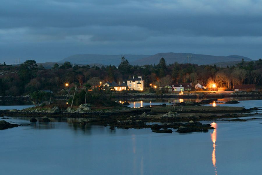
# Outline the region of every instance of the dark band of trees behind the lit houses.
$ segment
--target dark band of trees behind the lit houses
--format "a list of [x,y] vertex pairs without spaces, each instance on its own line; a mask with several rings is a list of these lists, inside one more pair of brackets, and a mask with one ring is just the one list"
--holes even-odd
[[[219,87],[233,88],[238,84],[256,84],[261,86],[262,60],[245,62],[242,60],[236,66],[220,68],[214,65],[197,64],[166,64],[161,58],[157,65],[130,65],[124,59],[118,67],[114,65],[103,67],[72,66],[64,62],[60,66],[54,64],[52,69],[45,69],[34,60],[27,60],[20,65],[19,70],[13,65],[0,65],[0,95],[28,95],[38,90],[50,90],[56,93],[67,93],[65,83],[70,88],[95,87],[100,82],[123,82],[134,76],[142,76],[145,87],[150,84],[164,87],[170,83],[216,82]],[[76,86],[77,85],[77,86]],[[81,88],[80,88],[81,89]],[[82,88],[83,89],[83,88]]]

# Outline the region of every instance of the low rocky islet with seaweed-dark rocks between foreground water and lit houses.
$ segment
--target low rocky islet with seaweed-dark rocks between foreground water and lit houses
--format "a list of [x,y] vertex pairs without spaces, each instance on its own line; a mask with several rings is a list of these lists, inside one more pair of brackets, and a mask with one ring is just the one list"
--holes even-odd
[[[115,127],[124,129],[151,128],[153,132],[158,133],[171,133],[173,132],[172,129],[177,129],[176,132],[186,133],[207,132],[208,129],[214,129],[209,124],[203,125],[199,121],[246,121],[240,119],[240,117],[256,115],[257,113],[251,114],[250,112],[259,110],[259,108],[202,106],[213,101],[217,101],[217,99],[152,105],[143,108],[129,108],[118,101],[115,101],[114,106],[107,107],[82,104],[71,108],[67,105],[51,104],[22,110],[1,110],[0,114],[2,116],[30,118],[31,122],[50,122],[52,118],[75,118],[80,119],[78,120],[80,125],[103,125],[109,126],[110,129]],[[237,101],[230,101],[230,103],[237,103]],[[36,116],[38,117],[36,118]],[[162,123],[162,125],[157,123]]]

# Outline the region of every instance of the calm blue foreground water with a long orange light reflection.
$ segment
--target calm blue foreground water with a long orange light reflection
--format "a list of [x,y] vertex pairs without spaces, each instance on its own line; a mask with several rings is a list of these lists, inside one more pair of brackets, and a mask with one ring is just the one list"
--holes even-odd
[[[245,103],[246,102],[246,103]],[[256,100],[255,106],[261,106]],[[248,101],[243,101],[244,105]],[[262,115],[256,115],[262,118]],[[29,123],[28,119],[5,119]],[[67,122],[0,130],[4,174],[261,174],[262,119],[205,121],[207,133],[161,134]]]

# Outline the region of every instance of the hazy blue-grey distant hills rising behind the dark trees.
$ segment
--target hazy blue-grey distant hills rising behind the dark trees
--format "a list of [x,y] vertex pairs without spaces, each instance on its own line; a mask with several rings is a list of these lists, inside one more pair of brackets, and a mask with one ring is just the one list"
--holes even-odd
[[[122,55],[123,56],[123,55]],[[187,59],[188,56],[191,56]],[[160,58],[164,58],[167,64],[173,64],[174,62],[178,63],[187,63],[191,62],[192,64],[215,64],[218,62],[237,62],[241,61],[244,58],[245,61],[251,61],[250,58],[240,56],[240,55],[230,55],[230,56],[214,56],[214,55],[198,55],[192,53],[157,53],[155,55],[125,55],[132,65],[146,65],[146,64],[158,64]],[[63,60],[60,60],[59,63],[65,61],[71,62],[72,64],[103,64],[103,65],[115,65],[118,66],[121,62],[121,55],[93,55],[93,54],[82,54],[82,55],[72,55]],[[217,65],[218,66],[218,65]]]

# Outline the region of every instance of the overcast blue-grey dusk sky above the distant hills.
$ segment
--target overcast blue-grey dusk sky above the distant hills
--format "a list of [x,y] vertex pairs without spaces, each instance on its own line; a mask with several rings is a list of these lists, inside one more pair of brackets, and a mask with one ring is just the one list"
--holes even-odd
[[258,60],[261,12],[262,0],[1,1],[0,63],[164,52]]

